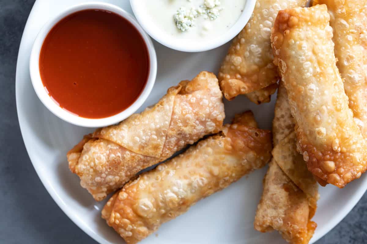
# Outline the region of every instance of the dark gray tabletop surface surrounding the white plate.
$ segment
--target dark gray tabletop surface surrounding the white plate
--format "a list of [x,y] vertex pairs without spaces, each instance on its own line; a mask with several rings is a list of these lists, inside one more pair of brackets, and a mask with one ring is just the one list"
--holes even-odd
[[[62,0],[61,0],[62,1]],[[96,243],[54,203],[25,150],[15,106],[15,66],[34,0],[0,0],[0,243]],[[367,243],[367,195],[317,244]]]

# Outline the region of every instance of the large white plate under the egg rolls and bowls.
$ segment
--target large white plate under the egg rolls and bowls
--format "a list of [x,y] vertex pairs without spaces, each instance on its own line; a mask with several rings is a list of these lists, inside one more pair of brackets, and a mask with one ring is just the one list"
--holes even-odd
[[[99,243],[121,243],[121,239],[100,217],[104,202],[96,203],[70,173],[66,152],[91,132],[89,128],[68,124],[49,112],[38,100],[29,76],[29,55],[38,31],[50,16],[83,0],[37,0],[29,15],[19,49],[16,98],[19,124],[29,157],[44,186],[59,207],[84,232]],[[131,12],[128,0],[106,1]],[[154,43],[158,56],[158,75],[153,92],[143,105],[156,103],[168,87],[182,79],[191,79],[199,71],[216,72],[228,44],[204,53],[182,53]],[[225,101],[227,121],[236,112],[252,109],[261,128],[270,128],[275,96],[270,104],[254,105],[244,97]],[[142,110],[141,109],[141,110]],[[227,189],[201,200],[188,213],[170,221],[142,243],[150,244],[260,244],[285,243],[277,232],[262,234],[254,230],[255,210],[262,192],[266,169],[243,177]],[[320,187],[321,199],[313,220],[317,229],[315,242],[333,228],[355,206],[367,188],[364,174],[340,190]],[[35,220],[36,221],[36,220]]]

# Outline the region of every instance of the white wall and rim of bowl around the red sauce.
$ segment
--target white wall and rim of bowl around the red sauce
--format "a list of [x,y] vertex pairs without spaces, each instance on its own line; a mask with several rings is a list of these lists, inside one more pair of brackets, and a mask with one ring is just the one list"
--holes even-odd
[[[110,11],[128,20],[139,31],[139,33],[143,37],[143,40],[145,41],[145,44],[148,49],[148,54],[149,54],[150,69],[149,69],[148,80],[147,80],[147,83],[142,93],[139,95],[137,100],[124,111],[116,115],[102,118],[102,119],[88,119],[88,118],[74,115],[62,109],[59,105],[57,105],[52,100],[50,95],[48,95],[42,83],[40,70],[39,70],[39,57],[40,57],[40,51],[43,45],[43,41],[46,38],[47,34],[52,29],[52,27],[54,27],[60,20],[62,20],[63,18],[65,18],[68,15],[81,11],[81,10],[88,10],[88,9],[99,9],[99,10]],[[102,3],[102,2],[89,2],[89,3],[78,4],[78,5],[75,5],[73,7],[70,7],[62,11],[60,14],[58,14],[57,16],[49,20],[46,23],[46,25],[43,26],[43,28],[37,35],[36,40],[34,41],[34,44],[33,44],[32,52],[30,55],[29,70],[30,70],[30,77],[32,80],[32,85],[33,85],[34,90],[36,91],[37,96],[39,97],[41,102],[48,108],[48,110],[54,113],[54,115],[58,116],[60,119],[63,119],[71,124],[75,124],[75,125],[79,125],[83,127],[103,127],[106,125],[116,124],[126,119],[127,117],[132,115],[136,110],[138,110],[141,107],[141,105],[145,102],[150,92],[152,91],[153,85],[156,80],[157,56],[156,56],[156,52],[155,52],[155,48],[153,46],[152,40],[145,33],[145,31],[139,25],[137,20],[135,20],[135,18],[131,14],[127,13],[123,9],[113,4]]]

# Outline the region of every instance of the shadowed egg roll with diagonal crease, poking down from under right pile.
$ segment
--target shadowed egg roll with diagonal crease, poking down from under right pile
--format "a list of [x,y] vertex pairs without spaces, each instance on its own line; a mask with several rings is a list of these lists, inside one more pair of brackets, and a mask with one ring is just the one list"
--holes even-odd
[[255,229],[277,230],[291,244],[307,244],[316,223],[317,183],[296,150],[294,120],[284,84],[280,82],[273,120],[273,159],[255,215]]

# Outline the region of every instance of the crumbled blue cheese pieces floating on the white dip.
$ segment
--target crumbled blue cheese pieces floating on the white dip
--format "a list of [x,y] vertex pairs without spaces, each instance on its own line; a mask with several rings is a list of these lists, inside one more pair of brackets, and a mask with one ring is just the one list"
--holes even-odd
[[[192,0],[188,0],[192,2]],[[219,17],[219,11],[223,10],[221,0],[204,0],[204,4],[198,8],[187,10],[185,7],[179,8],[174,14],[176,26],[181,31],[187,31],[190,27],[195,26],[195,19],[199,15],[203,15],[204,19],[215,20]]]

